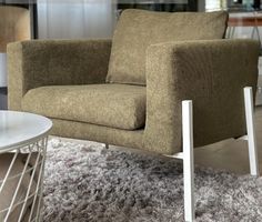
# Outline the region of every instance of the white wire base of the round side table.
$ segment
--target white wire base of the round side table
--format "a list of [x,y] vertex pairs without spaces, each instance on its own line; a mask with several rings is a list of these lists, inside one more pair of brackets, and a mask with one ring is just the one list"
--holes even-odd
[[47,143],[38,138],[0,152],[0,221],[41,221]]

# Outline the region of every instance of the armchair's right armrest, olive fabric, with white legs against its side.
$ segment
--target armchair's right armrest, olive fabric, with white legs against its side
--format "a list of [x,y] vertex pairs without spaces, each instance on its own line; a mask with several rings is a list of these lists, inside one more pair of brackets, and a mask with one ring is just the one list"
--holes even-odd
[[194,147],[243,135],[243,88],[255,89],[258,59],[253,40],[149,47],[144,148],[164,154],[182,151],[182,100],[193,101]]

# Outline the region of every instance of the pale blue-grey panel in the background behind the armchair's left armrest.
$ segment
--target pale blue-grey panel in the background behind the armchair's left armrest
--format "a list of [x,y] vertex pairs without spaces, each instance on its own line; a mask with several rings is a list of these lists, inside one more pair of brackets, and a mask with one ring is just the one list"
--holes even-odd
[[38,0],[40,39],[110,38],[115,24],[112,0]]

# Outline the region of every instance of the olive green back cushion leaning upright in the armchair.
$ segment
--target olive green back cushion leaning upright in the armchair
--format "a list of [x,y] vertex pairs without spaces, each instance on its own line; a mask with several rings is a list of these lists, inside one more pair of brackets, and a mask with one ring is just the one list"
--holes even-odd
[[113,36],[107,81],[145,85],[145,51],[150,44],[222,39],[228,13],[124,10]]

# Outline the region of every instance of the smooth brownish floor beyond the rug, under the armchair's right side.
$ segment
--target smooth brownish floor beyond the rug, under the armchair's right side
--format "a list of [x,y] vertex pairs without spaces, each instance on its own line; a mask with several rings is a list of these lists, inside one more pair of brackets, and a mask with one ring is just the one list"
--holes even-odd
[[[262,172],[262,107],[255,109],[255,130],[258,139],[260,172]],[[226,140],[216,144],[195,149],[195,163],[231,172],[249,173],[248,142]]]

